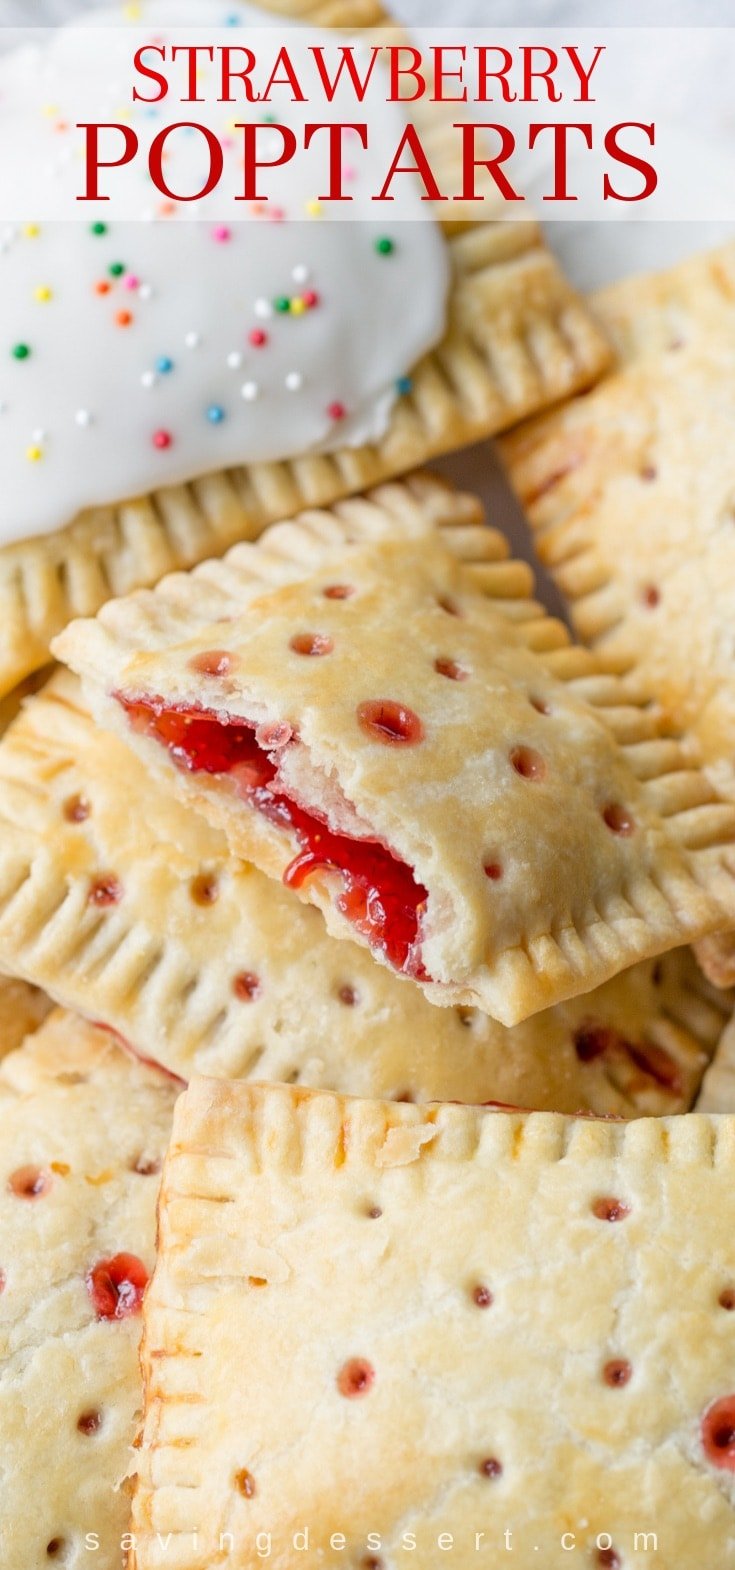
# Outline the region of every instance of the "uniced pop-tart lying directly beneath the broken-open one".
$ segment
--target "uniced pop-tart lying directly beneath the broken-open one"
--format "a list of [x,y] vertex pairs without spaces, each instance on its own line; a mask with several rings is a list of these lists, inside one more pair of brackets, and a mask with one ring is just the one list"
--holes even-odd
[[69,672],[0,744],[0,969],[181,1079],[625,1118],[691,1105],[732,1008],[686,950],[514,1028],[433,1008],[231,857],[94,725]]

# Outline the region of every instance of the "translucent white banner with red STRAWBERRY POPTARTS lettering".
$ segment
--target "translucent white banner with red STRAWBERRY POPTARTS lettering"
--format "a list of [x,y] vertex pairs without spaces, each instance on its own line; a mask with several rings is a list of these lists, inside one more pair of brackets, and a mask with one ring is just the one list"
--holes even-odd
[[3,31],[0,221],[735,217],[732,121],[711,124],[735,28],[148,16]]

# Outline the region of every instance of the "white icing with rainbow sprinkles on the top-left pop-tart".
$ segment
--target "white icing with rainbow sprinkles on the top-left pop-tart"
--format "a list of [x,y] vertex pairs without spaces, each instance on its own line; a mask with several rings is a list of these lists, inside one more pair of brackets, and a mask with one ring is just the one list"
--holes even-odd
[[[226,0],[152,0],[137,11],[157,38],[166,22],[221,28],[228,11],[273,25]],[[104,20],[119,24],[121,14]],[[55,138],[53,177],[77,192],[79,163],[64,157],[68,133],[57,129],[64,107],[71,124],[79,118],[69,33],[46,52],[0,63],[0,126],[6,144],[24,146],[22,104],[24,124]],[[258,107],[225,111],[262,118]],[[188,116],[214,124],[204,104],[163,105],[162,115],[162,124]],[[353,176],[368,188],[378,170],[385,176],[385,146],[400,137],[400,111],[383,105],[383,162],[372,166],[372,154],[361,152]],[[309,118],[313,105],[292,105],[295,130]],[[353,104],[342,118],[355,118]],[[184,140],[176,160],[181,173]],[[426,209],[421,221],[391,229],[385,218],[295,218],[305,210],[302,185],[292,184],[291,198],[284,221],[192,221],[188,207],[165,220],[108,221],[104,234],[88,217],[0,220],[0,545],[57,529],[88,506],[228,465],[380,438],[411,366],[443,334],[446,246]],[[402,217],[405,203],[404,182]],[[393,250],[377,248],[382,237]],[[295,311],[276,309],[281,297],[295,300]]]

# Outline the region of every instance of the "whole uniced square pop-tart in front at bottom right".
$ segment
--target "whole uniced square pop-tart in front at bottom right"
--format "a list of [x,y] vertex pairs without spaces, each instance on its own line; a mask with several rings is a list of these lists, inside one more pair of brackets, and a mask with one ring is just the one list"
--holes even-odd
[[733,1184],[732,1118],[193,1082],[144,1303],[133,1570],[726,1570]]

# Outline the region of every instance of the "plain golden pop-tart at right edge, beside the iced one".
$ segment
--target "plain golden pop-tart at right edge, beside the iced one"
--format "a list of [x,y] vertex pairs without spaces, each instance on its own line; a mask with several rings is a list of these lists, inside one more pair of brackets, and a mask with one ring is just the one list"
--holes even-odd
[[603,290],[622,364],[501,444],[575,631],[735,799],[735,243]]

